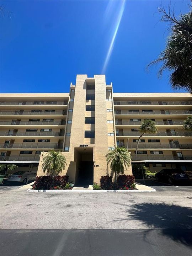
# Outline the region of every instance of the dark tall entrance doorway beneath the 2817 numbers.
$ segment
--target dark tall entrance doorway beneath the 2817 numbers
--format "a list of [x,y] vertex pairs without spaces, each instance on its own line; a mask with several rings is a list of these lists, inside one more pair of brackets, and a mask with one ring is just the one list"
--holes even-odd
[[75,148],[76,186],[89,186],[94,180],[93,148]]

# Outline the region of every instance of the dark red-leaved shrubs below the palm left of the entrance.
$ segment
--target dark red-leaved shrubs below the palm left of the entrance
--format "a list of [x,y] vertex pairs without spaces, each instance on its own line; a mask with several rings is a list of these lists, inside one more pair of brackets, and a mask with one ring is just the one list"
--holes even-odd
[[32,189],[34,190],[50,190],[56,189],[54,187],[64,187],[66,182],[68,181],[68,176],[55,176],[50,177],[49,175],[46,176],[39,176],[36,177]]

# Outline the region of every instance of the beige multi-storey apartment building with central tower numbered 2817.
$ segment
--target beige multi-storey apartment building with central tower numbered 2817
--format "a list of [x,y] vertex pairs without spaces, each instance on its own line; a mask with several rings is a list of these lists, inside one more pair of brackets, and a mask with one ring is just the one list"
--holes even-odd
[[[0,164],[42,175],[46,152],[62,151],[63,174],[75,183],[99,181],[110,174],[106,154],[125,146],[132,161],[151,171],[162,167],[191,170],[191,132],[183,121],[191,114],[188,93],[113,93],[105,75],[77,75],[69,93],[1,94]],[[155,135],[145,134],[135,156],[138,127],[152,119]],[[132,174],[131,166],[126,171]]]

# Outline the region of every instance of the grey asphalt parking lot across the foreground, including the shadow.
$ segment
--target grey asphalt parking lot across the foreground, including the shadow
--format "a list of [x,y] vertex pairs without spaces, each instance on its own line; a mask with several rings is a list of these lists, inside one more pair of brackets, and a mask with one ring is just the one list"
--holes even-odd
[[191,186],[145,184],[156,192],[55,194],[0,186],[1,255],[191,256]]

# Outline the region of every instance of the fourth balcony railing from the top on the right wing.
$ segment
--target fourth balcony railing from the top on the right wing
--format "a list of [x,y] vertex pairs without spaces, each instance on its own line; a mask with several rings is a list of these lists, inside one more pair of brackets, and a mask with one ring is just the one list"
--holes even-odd
[[[140,136],[139,132],[117,132],[116,136]],[[156,134],[145,133],[144,136],[192,136],[191,132],[158,132]]]

